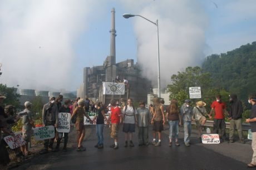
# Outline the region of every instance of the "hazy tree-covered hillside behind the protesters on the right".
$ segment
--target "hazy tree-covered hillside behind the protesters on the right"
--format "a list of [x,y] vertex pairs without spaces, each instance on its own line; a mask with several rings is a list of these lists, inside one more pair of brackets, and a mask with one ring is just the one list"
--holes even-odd
[[202,64],[213,78],[213,87],[226,89],[245,101],[256,92],[256,42],[223,54],[212,54]]

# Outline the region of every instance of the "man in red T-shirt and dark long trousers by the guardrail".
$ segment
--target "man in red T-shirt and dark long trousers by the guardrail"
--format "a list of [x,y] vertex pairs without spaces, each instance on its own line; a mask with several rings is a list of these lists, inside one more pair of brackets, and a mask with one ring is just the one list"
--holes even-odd
[[210,111],[210,119],[213,112],[215,112],[214,115],[214,121],[213,121],[213,133],[218,134],[220,129],[220,138],[224,140],[226,138],[226,123],[225,123],[225,114],[228,113],[226,110],[226,105],[224,102],[221,101],[221,96],[216,96],[216,101],[211,103],[211,111]]

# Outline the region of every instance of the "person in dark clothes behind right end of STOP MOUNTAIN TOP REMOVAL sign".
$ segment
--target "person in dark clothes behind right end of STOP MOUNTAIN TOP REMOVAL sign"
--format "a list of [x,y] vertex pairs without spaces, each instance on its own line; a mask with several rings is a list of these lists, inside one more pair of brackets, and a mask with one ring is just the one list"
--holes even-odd
[[[58,127],[58,107],[55,104],[55,97],[50,97],[50,102],[46,103],[43,106],[42,112],[43,126],[54,126],[55,127],[55,135],[56,128]],[[55,138],[46,139],[43,142],[45,148],[40,152],[41,154],[47,153],[48,148],[52,151],[52,146]]]

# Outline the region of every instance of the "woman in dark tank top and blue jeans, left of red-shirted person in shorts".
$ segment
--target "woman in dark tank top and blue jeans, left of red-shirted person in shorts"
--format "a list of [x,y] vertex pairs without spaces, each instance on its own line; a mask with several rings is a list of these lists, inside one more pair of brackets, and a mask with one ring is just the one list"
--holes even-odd
[[95,121],[96,119],[96,135],[98,137],[98,143],[94,146],[96,148],[103,148],[103,129],[104,129],[104,119],[107,121],[107,124],[109,124],[109,120],[105,116],[105,109],[102,106],[101,102],[98,102],[96,105],[96,115],[93,117],[92,121]]

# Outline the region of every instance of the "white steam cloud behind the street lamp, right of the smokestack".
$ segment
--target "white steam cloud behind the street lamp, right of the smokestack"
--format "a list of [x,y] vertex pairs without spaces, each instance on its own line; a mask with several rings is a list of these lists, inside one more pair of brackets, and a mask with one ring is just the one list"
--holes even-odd
[[[132,13],[156,22],[159,20],[161,88],[170,84],[172,74],[187,66],[200,66],[205,57],[205,30],[208,19],[200,1],[137,1],[129,5]],[[134,17],[138,42],[137,59],[144,76],[157,84],[157,31],[154,24]],[[156,86],[155,86],[156,87]]]

